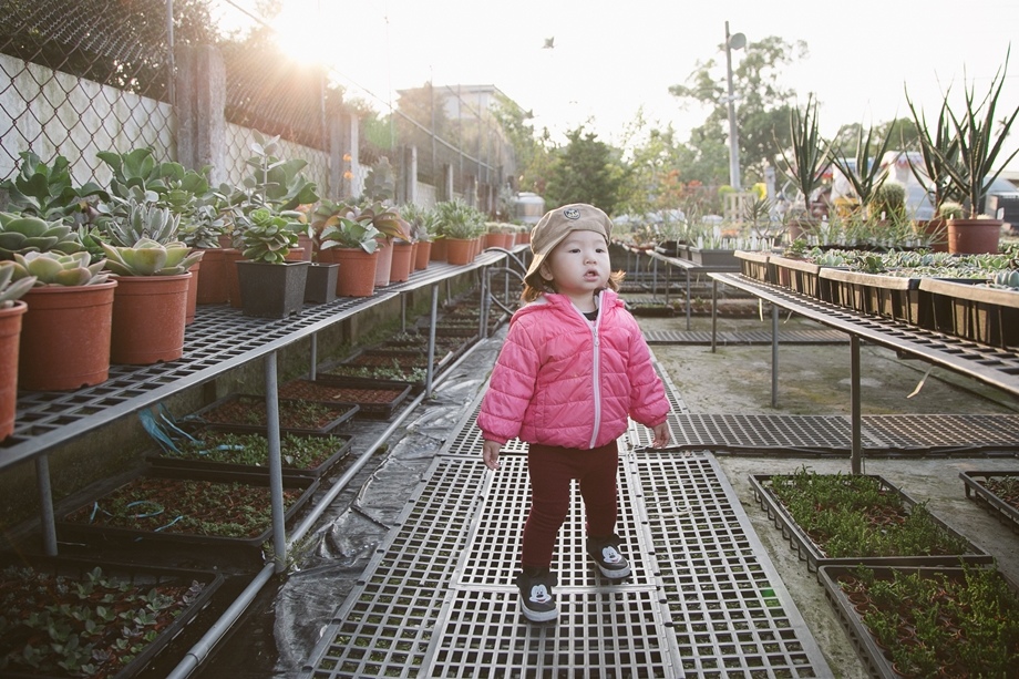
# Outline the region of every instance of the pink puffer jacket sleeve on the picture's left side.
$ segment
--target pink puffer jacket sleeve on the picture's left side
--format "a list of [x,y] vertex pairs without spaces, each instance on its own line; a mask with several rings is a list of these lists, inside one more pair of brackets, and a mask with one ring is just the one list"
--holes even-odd
[[528,331],[529,325],[511,326],[495,361],[477,415],[477,426],[487,441],[505,443],[516,438],[534,397],[541,356]]

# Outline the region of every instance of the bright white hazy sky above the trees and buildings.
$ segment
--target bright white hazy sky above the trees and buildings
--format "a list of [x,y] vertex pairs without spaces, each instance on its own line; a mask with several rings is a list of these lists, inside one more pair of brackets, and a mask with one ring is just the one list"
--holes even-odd
[[[257,0],[233,0],[256,13]],[[395,90],[491,84],[534,112],[536,130],[563,134],[585,124],[621,143],[642,107],[686,140],[703,121],[683,111],[669,85],[686,82],[699,62],[721,64],[725,21],[750,42],[778,35],[804,40],[810,55],[783,83],[821,102],[822,134],[908,117],[905,91],[928,116],[944,89],[978,97],[1005,63],[1000,120],[1019,107],[1019,6],[1016,0],[856,0],[761,2],[728,0],[284,0],[274,22],[294,52],[322,59],[348,92],[383,111]],[[224,8],[228,11],[229,8]],[[543,49],[555,38],[553,49]],[[742,51],[733,51],[733,63]],[[964,80],[965,76],[965,80]],[[1007,144],[1019,147],[1019,123]],[[1019,161],[1009,169],[1019,171]]]

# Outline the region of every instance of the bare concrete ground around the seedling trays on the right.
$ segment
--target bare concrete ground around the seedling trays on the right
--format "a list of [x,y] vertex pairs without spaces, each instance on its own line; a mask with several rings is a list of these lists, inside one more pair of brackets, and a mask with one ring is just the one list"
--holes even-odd
[[[685,319],[640,318],[645,332],[685,329]],[[820,328],[802,319],[785,320],[781,329]],[[692,329],[710,329],[710,320],[694,318]],[[770,317],[720,319],[719,330],[769,331]],[[771,405],[771,344],[719,347],[653,346],[691,413],[710,414],[851,414],[850,347],[844,344],[780,344],[778,403]],[[926,375],[926,380],[924,380]],[[910,395],[924,380],[918,393]],[[1019,412],[1019,400],[940,368],[929,371],[922,361],[899,359],[895,352],[864,344],[861,349],[861,400],[864,415]],[[1016,432],[1019,445],[1019,432]],[[753,474],[788,474],[801,466],[819,473],[850,472],[847,459],[769,457],[718,454],[748,517],[836,677],[863,679],[868,673],[842,628],[816,575],[807,572],[782,532],[756,503],[750,485]],[[967,500],[959,473],[1017,471],[1015,455],[864,461],[864,472],[899,487],[941,521],[997,559],[998,568],[1019,582],[1019,534],[974,501]]]

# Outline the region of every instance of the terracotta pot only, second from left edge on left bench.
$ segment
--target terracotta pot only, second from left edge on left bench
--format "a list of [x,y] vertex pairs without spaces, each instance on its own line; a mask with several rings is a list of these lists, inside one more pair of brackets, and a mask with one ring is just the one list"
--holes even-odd
[[18,383],[65,391],[105,382],[115,280],[97,286],[40,286],[24,296]]

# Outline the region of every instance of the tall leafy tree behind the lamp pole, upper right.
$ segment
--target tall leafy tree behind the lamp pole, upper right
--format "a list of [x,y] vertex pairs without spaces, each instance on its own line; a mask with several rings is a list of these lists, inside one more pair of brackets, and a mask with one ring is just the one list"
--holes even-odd
[[[720,51],[724,45],[719,47]],[[747,181],[762,181],[764,167],[772,163],[775,141],[789,143],[790,106],[792,90],[779,82],[786,66],[807,55],[806,43],[786,42],[774,35],[747,45],[743,59],[733,68],[732,83],[735,93],[737,126],[740,137],[740,164]],[[729,176],[728,130],[729,109],[724,63],[710,59],[694,70],[689,85],[672,85],[669,92],[680,99],[698,102],[709,109],[704,124],[691,133],[689,144],[698,153],[700,167],[691,178],[712,183]],[[725,150],[724,155],[720,150]],[[702,174],[703,173],[703,174]],[[727,179],[728,181],[728,179]]]

